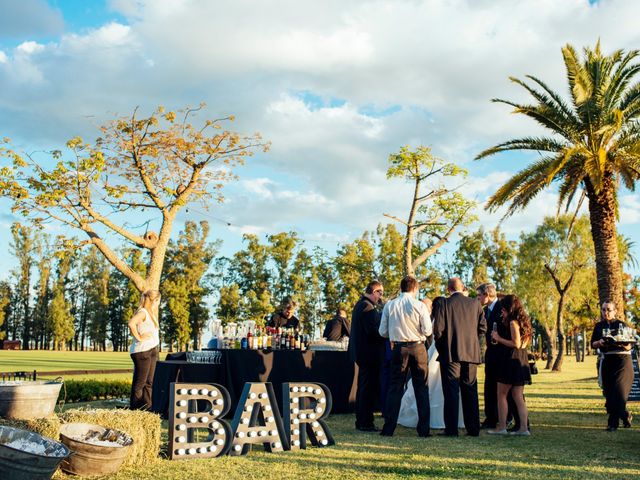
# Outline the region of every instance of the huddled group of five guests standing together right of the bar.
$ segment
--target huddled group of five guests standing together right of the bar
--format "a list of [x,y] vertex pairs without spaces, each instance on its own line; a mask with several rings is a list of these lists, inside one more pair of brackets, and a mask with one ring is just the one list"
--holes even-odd
[[[400,295],[384,305],[378,281],[370,282],[355,305],[351,318],[349,351],[358,365],[356,429],[378,431],[374,410],[380,396],[381,370],[386,344],[391,349],[389,385],[382,396],[383,436],[392,436],[406,390],[407,378],[415,395],[416,430],[421,437],[431,435],[428,387],[429,354],[435,342],[444,397],[444,431],[459,434],[459,404],[467,435],[478,436],[481,427],[490,434],[530,435],[524,385],[531,383],[527,347],[532,339],[531,321],[515,295],[498,300],[495,286],[478,287],[478,297],[468,296],[462,281],[451,278],[448,297],[433,302],[418,300],[419,283],[405,277]],[[477,366],[482,363],[480,337],[487,335],[485,355],[485,415],[480,423]],[[511,408],[509,408],[511,404]],[[509,416],[514,427],[507,430]]]

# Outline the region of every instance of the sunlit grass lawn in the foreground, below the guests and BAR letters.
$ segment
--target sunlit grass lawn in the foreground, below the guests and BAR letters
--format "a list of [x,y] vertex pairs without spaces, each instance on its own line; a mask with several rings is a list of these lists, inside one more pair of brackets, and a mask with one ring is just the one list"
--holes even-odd
[[[356,432],[353,415],[334,415],[328,422],[334,447],[281,454],[254,447],[246,457],[160,459],[111,478],[640,479],[640,426],[617,433],[604,430],[604,398],[594,362],[595,357],[580,364],[568,358],[564,372],[540,370],[534,377],[534,385],[526,388],[533,431],[529,438],[495,438],[483,431],[480,438],[419,439],[403,427],[393,438],[383,438]],[[638,404],[629,407],[640,418]],[[381,419],[377,423],[381,426]]]

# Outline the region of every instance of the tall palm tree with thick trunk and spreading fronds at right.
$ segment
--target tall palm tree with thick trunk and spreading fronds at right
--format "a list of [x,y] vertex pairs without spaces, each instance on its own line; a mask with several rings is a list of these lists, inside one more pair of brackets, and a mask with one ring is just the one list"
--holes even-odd
[[[514,107],[514,113],[533,118],[550,136],[524,137],[496,145],[477,159],[509,150],[533,150],[541,158],[514,175],[489,199],[487,209],[509,204],[506,216],[523,209],[540,191],[559,183],[558,208],[569,209],[588,199],[591,235],[595,247],[600,301],[615,302],[624,311],[622,268],[618,254],[616,221],[620,182],[630,189],[640,176],[640,71],[633,60],[640,52],[617,50],[609,56],[584,49],[581,59],[571,45],[562,48],[571,103],[541,80],[511,78],[534,98],[530,105],[493,99]],[[578,194],[578,197],[576,197]]]

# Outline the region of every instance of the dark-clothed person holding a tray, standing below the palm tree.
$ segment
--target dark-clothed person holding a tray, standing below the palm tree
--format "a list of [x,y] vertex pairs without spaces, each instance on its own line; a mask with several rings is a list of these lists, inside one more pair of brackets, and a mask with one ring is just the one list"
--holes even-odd
[[631,344],[616,345],[604,338],[604,329],[611,335],[618,332],[625,324],[616,320],[616,305],[613,302],[602,304],[602,320],[596,323],[591,335],[591,346],[600,350],[600,378],[602,390],[607,399],[605,407],[609,414],[607,431],[615,432],[622,420],[625,428],[631,427],[631,414],[627,411],[627,398],[633,384],[633,363],[631,360]]

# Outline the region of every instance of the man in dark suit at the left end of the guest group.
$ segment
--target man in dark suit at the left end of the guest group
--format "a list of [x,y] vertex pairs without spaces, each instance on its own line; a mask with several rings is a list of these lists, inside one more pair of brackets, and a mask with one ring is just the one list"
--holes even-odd
[[380,370],[385,350],[385,341],[378,333],[380,311],[377,309],[383,293],[380,282],[369,282],[351,314],[349,356],[358,365],[356,430],[363,432],[378,431],[373,423],[373,411],[380,396]]

